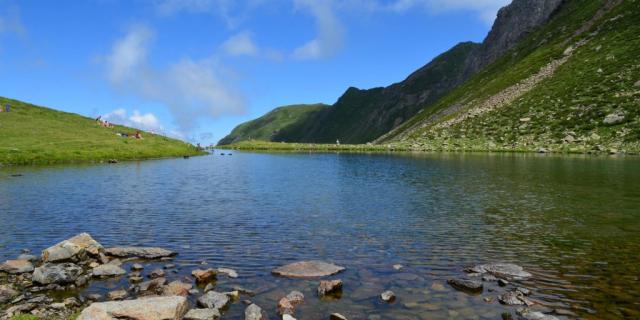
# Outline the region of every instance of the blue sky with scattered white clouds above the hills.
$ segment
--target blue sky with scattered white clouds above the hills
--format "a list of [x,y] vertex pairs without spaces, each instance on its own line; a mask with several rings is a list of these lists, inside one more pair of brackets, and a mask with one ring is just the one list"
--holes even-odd
[[0,0],[0,95],[215,143],[482,41],[509,0]]

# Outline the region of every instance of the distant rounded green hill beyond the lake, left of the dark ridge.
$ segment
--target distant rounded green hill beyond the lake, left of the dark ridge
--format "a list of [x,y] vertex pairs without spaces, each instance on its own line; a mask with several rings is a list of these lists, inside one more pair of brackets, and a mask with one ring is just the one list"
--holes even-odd
[[264,116],[238,125],[218,144],[225,145],[244,140],[272,141],[276,134],[295,122],[305,121],[325,109],[324,104],[291,105],[276,108]]

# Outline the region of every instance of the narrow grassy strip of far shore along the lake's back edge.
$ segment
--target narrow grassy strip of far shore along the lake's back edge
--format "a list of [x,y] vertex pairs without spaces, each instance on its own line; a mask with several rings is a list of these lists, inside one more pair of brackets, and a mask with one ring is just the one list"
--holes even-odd
[[551,153],[589,155],[630,155],[640,154],[640,147],[628,145],[618,149],[606,146],[568,147],[558,144],[549,147],[497,146],[484,141],[461,140],[454,143],[432,142],[429,144],[315,144],[268,141],[242,141],[230,145],[216,146],[224,150],[245,151],[309,151],[309,152],[496,152],[496,153]]

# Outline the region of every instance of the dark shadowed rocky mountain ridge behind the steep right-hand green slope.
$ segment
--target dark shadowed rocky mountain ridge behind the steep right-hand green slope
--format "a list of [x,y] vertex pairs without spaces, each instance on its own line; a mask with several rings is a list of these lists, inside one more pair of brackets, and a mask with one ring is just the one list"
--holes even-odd
[[[436,57],[402,82],[385,88],[349,88],[330,107],[288,124],[271,141],[365,143],[404,123],[544,25],[562,0],[515,0],[502,8],[481,44],[465,42]],[[229,142],[223,139],[221,144]]]

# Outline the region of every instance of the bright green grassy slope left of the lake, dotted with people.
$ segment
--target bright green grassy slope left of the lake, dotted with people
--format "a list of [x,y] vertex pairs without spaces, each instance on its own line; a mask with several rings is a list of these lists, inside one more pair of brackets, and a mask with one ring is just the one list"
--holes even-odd
[[196,155],[194,146],[163,136],[144,133],[141,140],[125,139],[117,132],[135,129],[103,128],[89,119],[0,97],[0,164],[51,164],[134,160]]

